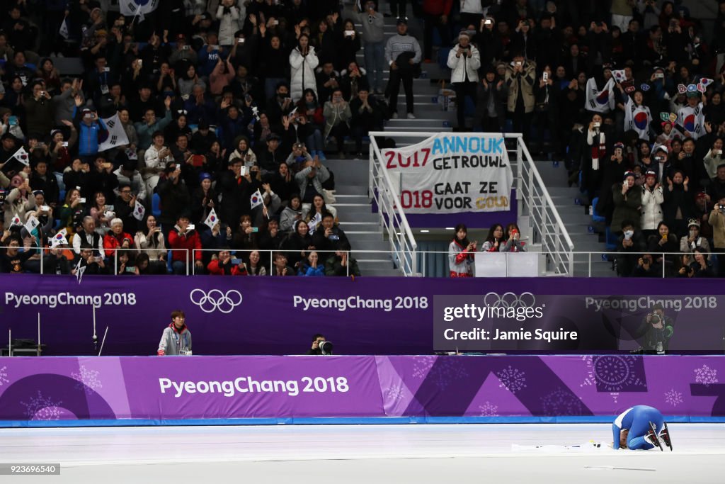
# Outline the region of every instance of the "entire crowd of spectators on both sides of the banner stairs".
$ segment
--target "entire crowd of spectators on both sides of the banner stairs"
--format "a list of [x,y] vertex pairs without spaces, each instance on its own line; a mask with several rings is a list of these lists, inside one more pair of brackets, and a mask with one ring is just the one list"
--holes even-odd
[[[361,156],[401,84],[415,118],[412,79],[440,44],[457,128],[473,117],[566,160],[621,236],[621,275],[725,274],[723,1],[713,27],[661,0],[112,3],[0,1],[1,271],[355,273],[347,238],[331,242],[326,156]],[[61,55],[85,73],[59,75]],[[70,249],[51,245],[59,232]],[[510,246],[495,233],[481,250]],[[453,244],[451,272],[470,274],[458,266],[479,248]],[[213,260],[167,255],[202,247]]]

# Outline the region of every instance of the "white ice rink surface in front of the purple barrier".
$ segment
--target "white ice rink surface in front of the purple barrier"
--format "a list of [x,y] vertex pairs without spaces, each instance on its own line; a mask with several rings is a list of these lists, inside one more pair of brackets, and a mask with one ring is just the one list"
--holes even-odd
[[[725,424],[671,424],[674,451],[614,451],[608,424],[0,429],[0,483],[723,483]],[[536,446],[546,446],[536,448]]]

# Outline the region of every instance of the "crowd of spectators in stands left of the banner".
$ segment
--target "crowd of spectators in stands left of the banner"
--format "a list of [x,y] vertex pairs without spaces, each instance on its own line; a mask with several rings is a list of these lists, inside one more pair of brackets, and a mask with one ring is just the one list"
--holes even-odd
[[389,117],[376,2],[131,4],[0,1],[0,271],[360,275],[325,163]]

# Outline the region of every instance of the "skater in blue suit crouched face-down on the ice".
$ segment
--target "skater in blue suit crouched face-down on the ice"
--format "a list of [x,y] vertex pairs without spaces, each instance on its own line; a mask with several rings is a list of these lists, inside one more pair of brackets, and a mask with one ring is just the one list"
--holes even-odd
[[[637,405],[627,409],[614,419],[613,448],[629,448],[631,451],[666,445],[672,450],[670,434],[662,414],[651,406]],[[617,443],[619,446],[617,447]]]

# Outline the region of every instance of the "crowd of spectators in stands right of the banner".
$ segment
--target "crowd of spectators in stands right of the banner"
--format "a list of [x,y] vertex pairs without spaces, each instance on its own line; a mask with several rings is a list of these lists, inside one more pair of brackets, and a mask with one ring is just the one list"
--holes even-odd
[[[457,3],[423,2],[426,41],[454,44],[439,60],[457,128],[521,132],[566,160],[618,237],[621,276],[725,276],[725,1],[709,19],[682,1],[483,1],[460,31]],[[465,274],[475,247],[454,249]]]

